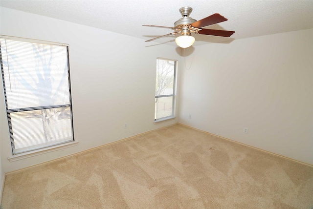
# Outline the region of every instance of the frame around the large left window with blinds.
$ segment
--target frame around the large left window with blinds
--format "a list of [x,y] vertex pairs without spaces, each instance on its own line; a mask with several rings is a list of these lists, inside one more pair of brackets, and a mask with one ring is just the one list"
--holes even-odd
[[[27,38],[20,38],[20,37],[12,37],[12,36],[4,36],[0,35],[0,39],[4,40],[12,40],[17,42],[28,42],[28,43],[36,43],[36,44],[48,44],[48,45],[58,45],[58,46],[65,46],[67,49],[66,52],[66,60],[67,60],[67,85],[68,85],[68,104],[56,104],[56,105],[46,105],[46,106],[34,106],[34,107],[22,107],[22,108],[8,108],[8,100],[7,100],[7,93],[6,93],[6,84],[5,81],[5,73],[4,73],[4,66],[3,66],[3,58],[2,58],[2,51],[0,49],[0,64],[1,64],[1,79],[2,79],[2,87],[3,87],[3,94],[4,94],[4,102],[6,108],[6,116],[8,121],[8,128],[9,128],[9,135],[10,135],[10,145],[12,149],[12,158],[8,158],[10,162],[19,160],[20,158],[23,159],[25,155],[37,155],[38,152],[49,152],[48,150],[51,149],[60,149],[60,147],[70,147],[75,146],[77,142],[75,142],[74,138],[74,124],[73,124],[73,105],[72,105],[72,93],[71,93],[71,82],[70,82],[70,63],[69,63],[69,44],[66,43],[59,43],[59,42],[49,42],[49,41],[42,41],[42,40],[35,40],[35,39],[27,39]],[[5,46],[6,48],[6,46]],[[46,143],[40,144],[39,146],[30,146],[23,148],[22,151],[14,152],[14,134],[12,129],[11,123],[11,113],[16,112],[27,112],[27,111],[34,111],[34,110],[43,110],[43,109],[53,109],[53,108],[69,108],[69,120],[70,120],[70,127],[71,127],[71,136],[62,140],[56,140],[56,143]],[[31,128],[31,126],[30,126]],[[68,139],[68,140],[66,140]],[[16,159],[15,159],[16,158]]]

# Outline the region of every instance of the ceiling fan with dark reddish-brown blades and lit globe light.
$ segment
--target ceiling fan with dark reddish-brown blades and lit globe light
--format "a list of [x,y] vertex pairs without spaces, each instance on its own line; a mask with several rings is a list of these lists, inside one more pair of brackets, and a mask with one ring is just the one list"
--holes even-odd
[[187,48],[191,46],[195,42],[195,38],[191,36],[191,33],[202,34],[202,35],[211,35],[211,36],[224,36],[230,37],[235,31],[228,30],[214,30],[214,29],[205,29],[208,25],[216,24],[219,22],[227,21],[222,15],[216,13],[214,15],[208,16],[206,18],[201,19],[200,21],[196,21],[189,17],[192,12],[192,8],[189,6],[181,7],[179,12],[182,16],[178,21],[174,22],[174,27],[166,27],[166,26],[158,26],[158,25],[142,25],[148,27],[161,27],[161,28],[169,28],[175,30],[173,33],[169,33],[163,36],[156,37],[154,39],[147,40],[145,42],[151,42],[156,39],[181,34],[181,36],[177,37],[175,42],[182,48]]

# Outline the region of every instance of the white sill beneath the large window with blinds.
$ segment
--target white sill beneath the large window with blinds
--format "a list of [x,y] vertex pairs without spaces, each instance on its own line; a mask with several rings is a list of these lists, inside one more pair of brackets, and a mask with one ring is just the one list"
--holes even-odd
[[34,151],[30,151],[30,152],[16,154],[16,155],[14,155],[12,157],[9,157],[8,160],[10,162],[14,162],[14,161],[22,160],[22,159],[25,159],[25,158],[29,158],[29,157],[34,157],[34,156],[37,156],[37,155],[45,154],[45,153],[48,153],[48,152],[53,152],[53,151],[56,151],[56,150],[68,148],[68,147],[71,147],[71,146],[76,146],[77,144],[78,144],[78,142],[74,141],[74,142],[68,142],[68,143],[61,144],[61,145],[45,147],[45,148],[42,148],[42,149],[37,149],[37,150],[34,150]]

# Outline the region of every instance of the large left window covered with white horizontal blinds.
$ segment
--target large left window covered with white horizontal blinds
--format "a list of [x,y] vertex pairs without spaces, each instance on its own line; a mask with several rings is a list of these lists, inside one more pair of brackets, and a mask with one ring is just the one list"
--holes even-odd
[[68,45],[0,36],[13,154],[74,141]]

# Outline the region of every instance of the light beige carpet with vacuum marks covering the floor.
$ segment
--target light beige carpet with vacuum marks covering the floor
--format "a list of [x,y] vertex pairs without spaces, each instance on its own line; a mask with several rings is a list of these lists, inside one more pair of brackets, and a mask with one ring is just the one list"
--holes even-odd
[[311,209],[313,167],[173,125],[6,176],[2,209]]

